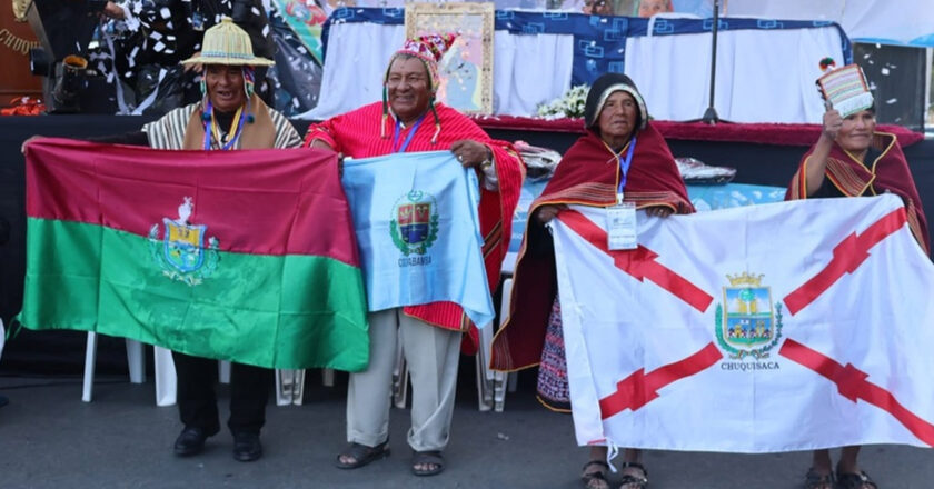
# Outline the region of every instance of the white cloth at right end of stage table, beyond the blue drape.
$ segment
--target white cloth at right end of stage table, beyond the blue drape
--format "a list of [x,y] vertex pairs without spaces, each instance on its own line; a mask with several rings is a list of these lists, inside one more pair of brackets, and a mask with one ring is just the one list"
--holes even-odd
[[[842,63],[836,28],[722,31],[715,108],[733,122],[818,122],[818,62]],[[699,119],[709,104],[711,34],[629,38],[626,74],[660,120]]]

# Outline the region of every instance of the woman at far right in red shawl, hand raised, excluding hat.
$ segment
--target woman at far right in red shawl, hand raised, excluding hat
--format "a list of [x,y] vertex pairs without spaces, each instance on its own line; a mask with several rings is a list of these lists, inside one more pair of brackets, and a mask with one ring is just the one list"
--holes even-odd
[[[873,108],[845,118],[827,109],[821,137],[802,158],[785,200],[895,193],[905,203],[912,234],[930,256],[927,220],[905,154],[894,134],[875,129]],[[843,447],[834,477],[831,451],[815,450],[804,487],[875,489],[875,482],[860,469],[858,455],[860,446]]]

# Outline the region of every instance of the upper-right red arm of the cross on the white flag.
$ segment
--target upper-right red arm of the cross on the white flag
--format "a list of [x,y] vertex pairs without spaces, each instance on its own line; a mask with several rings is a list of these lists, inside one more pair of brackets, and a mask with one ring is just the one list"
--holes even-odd
[[831,288],[844,273],[853,273],[870,258],[870,249],[905,226],[905,208],[898,208],[873,222],[861,234],[851,233],[834,247],[834,258],[803,286],[785,296],[792,316],[807,307]]

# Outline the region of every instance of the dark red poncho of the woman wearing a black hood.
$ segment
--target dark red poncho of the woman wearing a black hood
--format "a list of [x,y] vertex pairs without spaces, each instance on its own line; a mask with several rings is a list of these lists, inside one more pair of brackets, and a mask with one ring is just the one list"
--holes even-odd
[[[676,213],[692,213],[675,159],[652,123],[636,133],[636,148],[624,189],[625,201],[637,208],[664,206]],[[628,146],[623,149],[623,153]],[[606,207],[616,203],[619,163],[593,131],[580,137],[562,158],[555,176],[529,209],[526,234],[514,276],[509,319],[493,343],[491,367],[518,370],[541,358],[548,315],[557,291],[554,250],[535,210],[545,204],[579,203]]]

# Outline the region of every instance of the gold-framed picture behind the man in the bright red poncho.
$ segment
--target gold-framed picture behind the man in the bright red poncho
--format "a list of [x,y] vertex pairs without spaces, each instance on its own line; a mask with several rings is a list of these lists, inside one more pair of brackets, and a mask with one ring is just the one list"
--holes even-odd
[[437,100],[465,113],[493,113],[494,4],[407,3],[406,38],[456,36],[438,63]]

